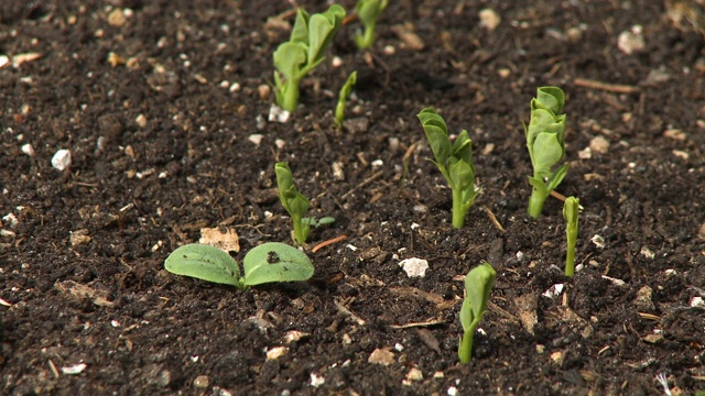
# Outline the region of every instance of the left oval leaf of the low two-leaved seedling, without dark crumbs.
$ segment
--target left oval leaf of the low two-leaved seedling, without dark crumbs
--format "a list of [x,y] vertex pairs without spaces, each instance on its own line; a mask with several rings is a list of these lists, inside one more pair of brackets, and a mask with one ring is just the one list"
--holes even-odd
[[205,244],[183,245],[164,261],[166,271],[218,284],[240,286],[238,263],[220,249]]

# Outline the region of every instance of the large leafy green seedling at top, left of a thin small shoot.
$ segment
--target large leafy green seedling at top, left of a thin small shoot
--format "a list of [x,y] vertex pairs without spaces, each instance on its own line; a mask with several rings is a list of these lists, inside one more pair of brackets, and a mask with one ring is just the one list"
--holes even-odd
[[274,94],[276,105],[284,110],[296,110],[301,80],[325,59],[323,54],[340,29],[343,18],[345,9],[338,4],[313,15],[304,9],[296,10],[291,37],[274,52]]

